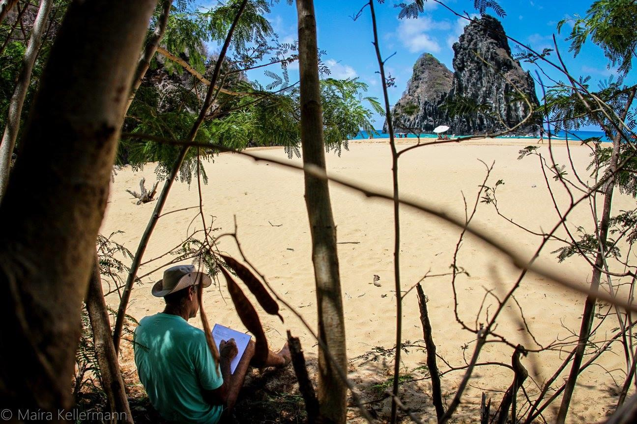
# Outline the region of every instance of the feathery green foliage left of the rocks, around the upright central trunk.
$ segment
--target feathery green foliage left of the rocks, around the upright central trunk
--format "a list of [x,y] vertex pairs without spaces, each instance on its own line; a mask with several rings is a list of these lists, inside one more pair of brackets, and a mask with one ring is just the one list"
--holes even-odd
[[[201,10],[183,2],[170,15],[162,41],[166,50],[179,55],[197,72],[210,78],[215,55],[204,45],[221,41],[234,18],[233,4]],[[220,144],[233,149],[249,146],[284,146],[291,157],[299,154],[299,88],[290,84],[287,66],[297,60],[296,43],[279,43],[264,18],[269,2],[254,0],[243,14],[233,38],[233,55],[222,67],[221,85],[240,95],[219,92],[196,142]],[[159,10],[157,11],[159,13]],[[151,25],[150,31],[153,31]],[[270,65],[265,71],[271,83],[248,81],[243,70]],[[280,69],[280,73],[270,69]],[[326,148],[336,153],[347,149],[347,139],[359,130],[373,131],[373,111],[382,111],[376,99],[364,95],[368,86],[359,79],[327,78],[329,69],[320,64]],[[186,137],[203,104],[208,86],[184,72],[182,65],[155,57],[145,81],[136,93],[125,121],[125,131],[169,139]],[[371,107],[371,109],[369,109]],[[161,141],[124,139],[119,163],[143,167],[157,162],[156,172],[166,177],[178,148]],[[210,158],[215,149],[200,149],[199,160]],[[197,150],[190,149],[180,170],[180,181],[191,182],[197,169]],[[204,169],[200,167],[200,169]],[[204,182],[206,175],[203,174]]]

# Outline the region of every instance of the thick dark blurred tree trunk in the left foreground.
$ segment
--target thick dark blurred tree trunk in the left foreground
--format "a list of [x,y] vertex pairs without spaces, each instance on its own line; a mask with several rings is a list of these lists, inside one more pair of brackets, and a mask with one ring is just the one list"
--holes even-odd
[[[156,0],[74,1],[0,204],[0,399],[73,404],[80,311],[132,75]],[[69,64],[72,64],[69,66]],[[31,188],[47,181],[46,190]],[[18,366],[19,365],[19,366]]]

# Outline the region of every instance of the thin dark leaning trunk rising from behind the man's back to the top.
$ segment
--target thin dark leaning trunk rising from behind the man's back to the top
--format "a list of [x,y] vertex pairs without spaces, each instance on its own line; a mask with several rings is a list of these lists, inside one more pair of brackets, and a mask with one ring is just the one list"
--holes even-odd
[[[233,38],[234,29],[239,23],[239,19],[241,15],[243,15],[243,11],[245,10],[245,6],[248,3],[248,0],[243,0],[239,6],[236,17],[234,17],[233,24],[230,25],[230,29],[228,30],[228,34],[225,37],[224,45],[219,52],[219,57],[217,58],[217,63],[215,63],[215,69],[212,71],[211,77],[211,85],[208,88],[208,93],[206,94],[206,99],[204,100],[204,105],[199,111],[199,116],[195,121],[194,125],[190,129],[190,133],[186,139],[187,142],[194,141],[197,136],[197,132],[199,131],[199,127],[201,127],[201,123],[203,123],[204,118],[206,118],[206,114],[208,113],[208,109],[213,102],[213,93],[215,92],[215,84],[219,79],[219,74],[221,72],[221,65],[224,63],[225,53],[230,46],[230,41]],[[177,177],[177,174],[182,167],[183,160],[188,153],[188,146],[182,147],[179,151],[179,155],[173,165],[173,168],[166,178],[166,182],[164,183],[164,187],[162,188],[159,197],[157,198],[157,203],[155,204],[155,210],[153,211],[150,220],[148,220],[148,224],[146,229],[144,230],[143,235],[141,235],[140,244],[137,247],[135,252],[135,257],[132,259],[131,270],[128,273],[128,277],[126,278],[126,284],[124,286],[124,292],[122,293],[122,299],[120,299],[120,305],[117,310],[117,319],[115,320],[115,328],[113,329],[113,344],[115,345],[115,352],[119,352],[119,343],[120,338],[122,338],[122,329],[124,329],[124,318],[126,315],[126,308],[128,307],[128,301],[131,299],[132,285],[135,282],[135,278],[137,277],[137,271],[140,268],[141,258],[144,256],[144,252],[146,251],[146,247],[148,245],[148,240],[150,240],[150,235],[152,235],[155,225],[157,224],[157,220],[159,219],[159,215],[161,215],[162,209],[164,209],[164,204],[166,203],[166,199],[168,199],[168,193],[170,188],[173,186],[173,182]]]

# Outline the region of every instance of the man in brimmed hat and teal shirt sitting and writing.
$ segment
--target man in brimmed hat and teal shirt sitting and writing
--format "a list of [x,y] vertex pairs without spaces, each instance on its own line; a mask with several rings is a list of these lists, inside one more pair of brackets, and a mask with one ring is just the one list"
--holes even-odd
[[[230,362],[238,352],[234,340],[221,341],[217,364],[204,332],[187,323],[199,310],[197,290],[210,284],[210,277],[192,265],[168,268],[152,289],[153,296],[164,297],[166,308],[142,318],[135,329],[140,381],[155,409],[169,421],[217,423],[222,413],[233,408],[254,356],[254,342],[250,341],[231,374]],[[278,353],[269,352],[266,367],[289,363],[286,344]]]

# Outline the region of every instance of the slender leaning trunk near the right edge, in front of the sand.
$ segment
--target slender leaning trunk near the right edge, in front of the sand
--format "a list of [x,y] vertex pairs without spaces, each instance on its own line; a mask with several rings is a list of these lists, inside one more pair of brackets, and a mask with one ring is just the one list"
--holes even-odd
[[[617,171],[617,163],[620,153],[620,134],[613,137],[613,152],[610,157],[610,165],[608,169],[613,172],[613,175],[608,179],[608,184],[604,191],[604,204],[601,213],[601,221],[599,222],[599,252],[595,258],[595,268],[593,268],[592,278],[590,279],[590,291],[597,292],[599,289],[599,281],[601,279],[601,270],[604,266],[604,254],[603,247],[606,245],[606,238],[608,237],[608,226],[610,223],[610,212],[613,202],[613,189],[615,188],[615,175]],[[589,295],[586,297],[584,303],[584,312],[582,315],[582,324],[580,325],[580,334],[578,339],[578,345],[575,349],[575,355],[573,355],[573,364],[571,364],[571,372],[569,373],[566,386],[564,387],[564,395],[562,395],[562,403],[557,413],[557,424],[564,424],[566,421],[566,414],[568,414],[568,407],[571,403],[571,397],[573,396],[573,390],[575,390],[575,383],[582,365],[582,359],[586,350],[586,345],[590,337],[590,329],[592,328],[593,318],[595,315],[595,301],[596,297]]]

